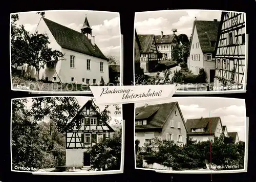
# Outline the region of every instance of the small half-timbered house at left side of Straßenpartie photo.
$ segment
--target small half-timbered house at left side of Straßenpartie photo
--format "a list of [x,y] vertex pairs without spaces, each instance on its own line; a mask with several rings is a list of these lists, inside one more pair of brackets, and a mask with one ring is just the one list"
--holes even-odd
[[155,35],[138,35],[140,50],[140,67],[144,73],[151,72],[158,63],[158,50]]

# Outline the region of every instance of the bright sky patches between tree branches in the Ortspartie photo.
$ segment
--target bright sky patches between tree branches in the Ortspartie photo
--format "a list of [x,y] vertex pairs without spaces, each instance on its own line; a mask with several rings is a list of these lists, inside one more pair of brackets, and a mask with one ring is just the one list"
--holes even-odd
[[[84,104],[86,104],[89,100],[92,99],[92,97],[83,97],[83,96],[76,96],[75,98],[76,98],[77,102],[79,103],[80,108]],[[32,106],[32,98],[27,98],[27,100],[28,100],[28,103],[26,104],[27,108],[30,108]],[[105,108],[105,105],[99,105],[99,104],[97,104],[97,101],[94,101],[94,102],[100,108],[101,111]],[[119,107],[120,107],[120,105],[119,105]],[[113,105],[110,105],[108,110],[110,111],[110,116],[111,116],[111,121],[109,122],[109,124],[111,126],[116,125],[115,119],[120,121],[119,123],[121,123],[121,121],[122,121],[122,112],[121,112],[121,114],[115,115],[115,110],[116,109],[115,109],[115,106],[113,106]]]

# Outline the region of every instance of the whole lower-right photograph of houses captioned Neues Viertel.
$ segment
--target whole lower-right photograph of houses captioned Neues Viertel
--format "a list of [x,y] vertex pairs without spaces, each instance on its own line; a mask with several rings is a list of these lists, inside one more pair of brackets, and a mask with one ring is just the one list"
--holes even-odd
[[244,99],[175,97],[136,103],[136,169],[170,173],[247,171]]

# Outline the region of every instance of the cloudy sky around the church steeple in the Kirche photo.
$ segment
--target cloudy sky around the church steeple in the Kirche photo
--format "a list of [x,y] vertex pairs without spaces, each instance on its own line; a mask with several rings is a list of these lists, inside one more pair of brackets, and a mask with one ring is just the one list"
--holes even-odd
[[[95,11],[45,11],[45,17],[60,25],[69,27],[81,32],[85,17],[92,28],[92,35],[95,36],[95,43],[105,55],[115,56],[120,61],[120,18],[119,13],[95,12]],[[40,15],[36,12],[19,14],[19,25],[34,33],[39,22]],[[51,40],[50,40],[51,41]]]

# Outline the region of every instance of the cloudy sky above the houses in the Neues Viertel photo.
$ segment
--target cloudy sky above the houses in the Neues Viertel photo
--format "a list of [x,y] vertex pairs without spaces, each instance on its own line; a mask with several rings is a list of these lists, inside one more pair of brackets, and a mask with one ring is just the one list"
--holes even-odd
[[[148,105],[178,102],[185,119],[201,117],[221,117],[222,125],[227,131],[237,131],[239,140],[245,141],[245,102],[243,99],[230,99],[218,97],[173,97],[165,101],[147,102]],[[136,107],[145,103],[137,103]]]

